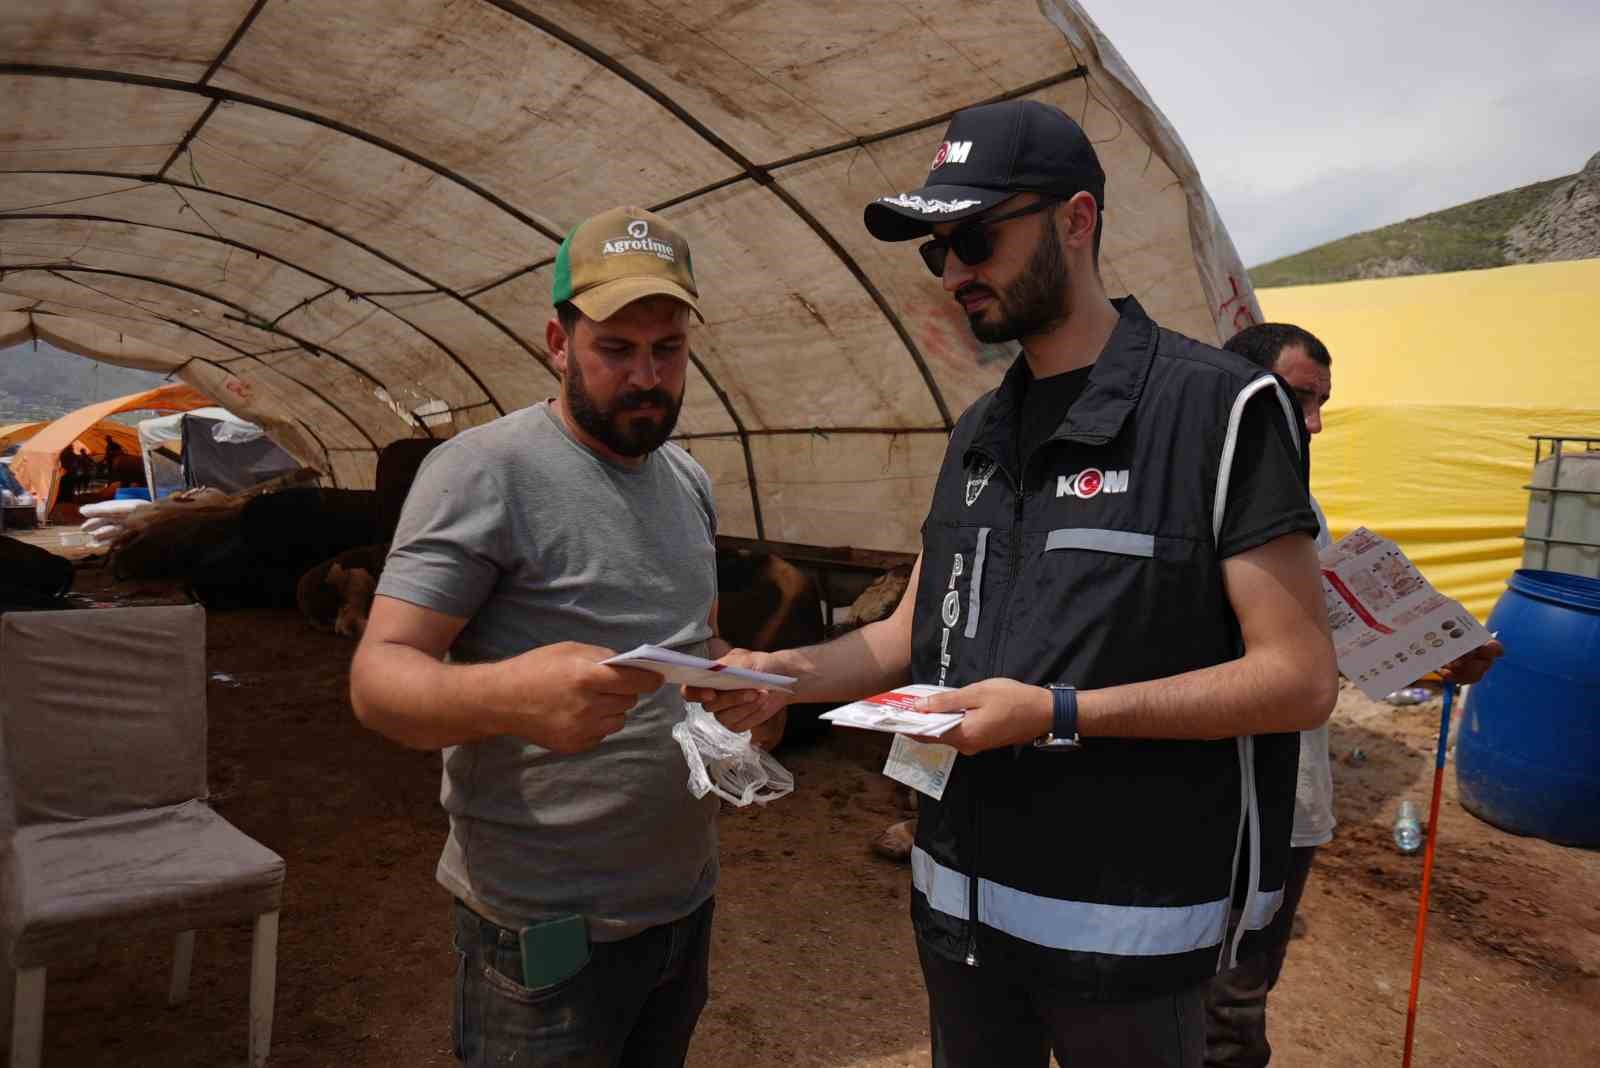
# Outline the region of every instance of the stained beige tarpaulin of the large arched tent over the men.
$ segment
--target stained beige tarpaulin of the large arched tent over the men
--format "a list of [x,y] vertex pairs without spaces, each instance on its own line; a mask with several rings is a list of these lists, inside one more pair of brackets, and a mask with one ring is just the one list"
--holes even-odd
[[720,528],[915,548],[952,420],[1011,353],[861,211],[997,98],[1098,144],[1112,293],[1206,341],[1256,313],[1072,0],[11,3],[0,85],[0,341],[174,371],[341,486],[554,393],[555,248],[630,203],[694,248],[678,430]]

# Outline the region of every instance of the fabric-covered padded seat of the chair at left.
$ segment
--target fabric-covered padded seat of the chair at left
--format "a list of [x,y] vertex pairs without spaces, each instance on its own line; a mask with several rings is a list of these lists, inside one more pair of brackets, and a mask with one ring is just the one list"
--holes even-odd
[[14,967],[50,966],[85,934],[170,934],[274,911],[283,859],[205,801],[16,833]]

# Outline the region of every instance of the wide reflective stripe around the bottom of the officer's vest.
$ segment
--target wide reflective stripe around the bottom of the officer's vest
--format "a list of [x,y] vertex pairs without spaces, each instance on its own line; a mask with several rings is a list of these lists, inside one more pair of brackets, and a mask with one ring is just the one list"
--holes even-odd
[[[966,919],[968,876],[947,868],[920,846],[910,851],[910,883],[931,908]],[[1245,927],[1272,923],[1283,891],[1256,894]],[[978,881],[978,921],[1013,938],[1051,950],[1165,956],[1222,943],[1227,899],[1200,905],[1102,905],[1029,894],[989,879]]]

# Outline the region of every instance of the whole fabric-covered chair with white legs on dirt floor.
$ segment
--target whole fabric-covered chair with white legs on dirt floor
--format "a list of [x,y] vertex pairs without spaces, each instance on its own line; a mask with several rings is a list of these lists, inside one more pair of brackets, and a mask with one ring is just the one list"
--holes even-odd
[[[254,919],[250,1065],[267,1062],[283,859],[206,796],[205,609],[0,619],[0,887],[14,970],[11,1068],[37,1068],[45,972],[90,942]],[[75,953],[77,951],[77,953]]]

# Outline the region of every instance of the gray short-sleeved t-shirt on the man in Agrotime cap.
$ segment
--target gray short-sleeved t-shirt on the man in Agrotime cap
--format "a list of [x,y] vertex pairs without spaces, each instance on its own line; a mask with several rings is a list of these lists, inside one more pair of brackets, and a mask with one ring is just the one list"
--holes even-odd
[[[546,401],[434,449],[378,593],[467,619],[456,662],[557,641],[704,654],[715,528],[710,480],[682,448],[637,470],[608,462]],[[699,908],[717,884],[717,799],[688,791],[682,718],[662,686],[587,753],[504,735],[446,748],[440,884],[507,927],[579,913],[600,942]]]

